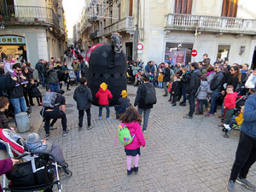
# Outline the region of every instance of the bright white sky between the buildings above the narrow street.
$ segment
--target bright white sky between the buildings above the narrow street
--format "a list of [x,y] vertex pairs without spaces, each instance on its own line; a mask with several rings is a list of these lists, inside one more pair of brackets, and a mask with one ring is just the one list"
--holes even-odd
[[63,0],[68,38],[73,38],[73,26],[79,20],[82,9],[84,8],[84,1],[85,0]]

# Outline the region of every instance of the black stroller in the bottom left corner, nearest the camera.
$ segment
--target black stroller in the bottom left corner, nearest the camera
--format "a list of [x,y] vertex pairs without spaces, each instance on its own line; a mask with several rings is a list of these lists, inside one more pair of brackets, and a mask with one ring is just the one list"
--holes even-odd
[[[11,172],[3,176],[3,192],[5,191],[41,191],[52,192],[56,184],[61,192],[61,182],[55,157],[51,154],[26,152],[16,160],[27,157],[29,161],[16,164]],[[54,181],[54,172],[56,180]],[[7,185],[7,179],[10,182]]]

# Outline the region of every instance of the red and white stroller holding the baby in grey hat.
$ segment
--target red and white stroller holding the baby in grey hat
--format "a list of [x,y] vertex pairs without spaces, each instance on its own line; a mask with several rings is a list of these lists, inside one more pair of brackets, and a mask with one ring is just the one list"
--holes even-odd
[[[6,147],[7,154],[9,155],[10,158],[14,158],[15,156],[19,156],[21,154],[26,154],[28,152],[28,149],[26,148],[25,145],[25,139],[20,137],[19,134],[10,131],[8,129],[0,129],[0,143],[3,143]],[[38,152],[36,153],[38,154]],[[52,155],[51,155],[52,156]],[[22,156],[23,160],[30,160],[28,156]],[[71,177],[73,175],[73,172],[71,172],[67,167],[68,164],[66,163],[65,169],[57,164],[58,170],[61,171],[63,170],[65,174],[68,177]]]

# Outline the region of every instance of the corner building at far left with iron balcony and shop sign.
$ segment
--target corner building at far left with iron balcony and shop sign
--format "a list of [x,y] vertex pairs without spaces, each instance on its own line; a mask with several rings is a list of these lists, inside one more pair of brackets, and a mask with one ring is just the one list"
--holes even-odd
[[13,0],[0,2],[0,38],[21,38],[21,42],[0,42],[6,54],[26,50],[27,61],[62,57],[67,48],[67,29],[62,0]]

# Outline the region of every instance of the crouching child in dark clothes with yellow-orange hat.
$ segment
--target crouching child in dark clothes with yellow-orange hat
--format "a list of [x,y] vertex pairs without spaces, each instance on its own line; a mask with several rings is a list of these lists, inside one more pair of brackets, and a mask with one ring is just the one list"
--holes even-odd
[[116,119],[119,119],[123,113],[125,113],[126,108],[131,106],[130,99],[127,97],[128,93],[126,90],[122,90],[121,96],[119,98],[119,105],[114,106]]

